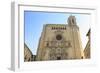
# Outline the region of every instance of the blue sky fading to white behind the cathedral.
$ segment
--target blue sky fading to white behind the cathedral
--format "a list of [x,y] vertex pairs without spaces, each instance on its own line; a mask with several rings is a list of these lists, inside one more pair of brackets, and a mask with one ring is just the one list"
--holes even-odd
[[76,17],[77,25],[80,28],[82,46],[84,48],[87,43],[86,33],[90,28],[90,15],[24,11],[24,41],[33,54],[36,54],[43,25],[48,23],[67,24],[67,19],[70,15]]

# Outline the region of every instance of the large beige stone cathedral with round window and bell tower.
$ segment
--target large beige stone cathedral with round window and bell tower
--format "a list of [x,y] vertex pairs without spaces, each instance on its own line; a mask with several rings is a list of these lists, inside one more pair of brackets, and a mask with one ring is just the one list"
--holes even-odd
[[39,39],[36,61],[83,59],[83,48],[75,16],[68,24],[45,24]]

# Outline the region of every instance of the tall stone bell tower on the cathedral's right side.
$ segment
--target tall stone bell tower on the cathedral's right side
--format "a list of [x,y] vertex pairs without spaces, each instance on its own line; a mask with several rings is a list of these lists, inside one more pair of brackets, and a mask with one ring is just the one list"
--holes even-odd
[[76,23],[75,16],[72,16],[72,15],[69,16],[68,26],[70,28],[69,32],[70,32],[70,38],[72,41],[72,48],[74,49],[74,52],[73,52],[74,58],[75,59],[84,58],[82,42],[81,42],[81,37],[80,37],[80,30]]

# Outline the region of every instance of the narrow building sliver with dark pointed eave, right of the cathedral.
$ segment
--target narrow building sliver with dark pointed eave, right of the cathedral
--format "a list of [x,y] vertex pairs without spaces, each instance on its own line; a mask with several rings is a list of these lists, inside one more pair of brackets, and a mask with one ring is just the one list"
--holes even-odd
[[88,33],[86,35],[86,36],[88,36],[88,42],[87,42],[86,47],[84,49],[84,56],[85,56],[86,59],[90,58],[90,34],[91,34],[90,31],[91,30],[89,29],[89,31],[88,31]]

